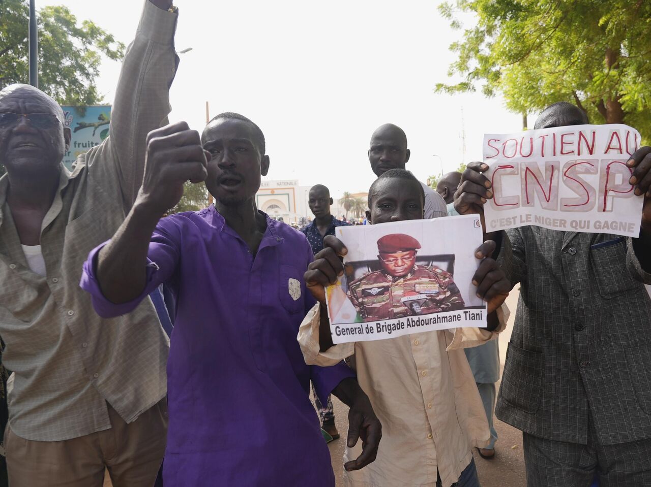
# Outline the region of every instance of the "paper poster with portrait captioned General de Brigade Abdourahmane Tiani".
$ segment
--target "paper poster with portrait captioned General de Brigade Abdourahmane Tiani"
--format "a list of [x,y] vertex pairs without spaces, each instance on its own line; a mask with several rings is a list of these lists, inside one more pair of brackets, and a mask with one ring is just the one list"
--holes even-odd
[[326,290],[333,343],[486,326],[472,278],[477,215],[337,227],[344,276]]

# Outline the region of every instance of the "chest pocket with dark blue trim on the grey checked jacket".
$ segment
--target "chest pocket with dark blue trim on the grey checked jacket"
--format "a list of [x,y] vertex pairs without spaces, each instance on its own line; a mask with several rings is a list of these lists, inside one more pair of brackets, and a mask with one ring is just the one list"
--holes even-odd
[[590,261],[602,298],[615,298],[635,287],[635,281],[626,268],[624,237],[590,246]]

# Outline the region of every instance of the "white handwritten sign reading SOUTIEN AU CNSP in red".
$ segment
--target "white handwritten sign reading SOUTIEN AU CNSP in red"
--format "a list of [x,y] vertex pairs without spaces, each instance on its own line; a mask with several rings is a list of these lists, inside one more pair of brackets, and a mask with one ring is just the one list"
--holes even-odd
[[626,125],[572,125],[484,135],[493,198],[486,232],[536,225],[637,237],[643,196],[626,166],[641,142]]

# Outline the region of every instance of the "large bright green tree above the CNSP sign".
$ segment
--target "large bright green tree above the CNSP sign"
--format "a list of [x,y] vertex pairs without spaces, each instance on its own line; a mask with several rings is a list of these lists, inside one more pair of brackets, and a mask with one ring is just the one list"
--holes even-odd
[[590,121],[626,123],[651,137],[651,2],[646,0],[455,0],[439,10],[475,14],[437,92],[503,94],[523,114],[570,101]]

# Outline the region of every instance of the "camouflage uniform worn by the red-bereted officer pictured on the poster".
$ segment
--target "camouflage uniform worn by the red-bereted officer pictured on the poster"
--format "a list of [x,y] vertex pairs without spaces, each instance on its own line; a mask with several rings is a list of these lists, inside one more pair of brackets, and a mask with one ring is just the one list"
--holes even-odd
[[452,274],[415,265],[404,278],[369,272],[348,286],[348,297],[364,321],[427,315],[464,308]]

